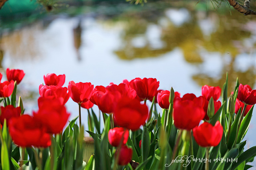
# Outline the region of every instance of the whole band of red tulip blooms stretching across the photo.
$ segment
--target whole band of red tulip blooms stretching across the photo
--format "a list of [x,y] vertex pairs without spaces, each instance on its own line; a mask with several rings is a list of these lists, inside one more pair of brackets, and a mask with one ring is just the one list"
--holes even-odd
[[[144,126],[144,129],[155,129],[156,131],[155,126],[158,124],[168,136],[171,135],[174,125],[173,128],[178,129],[177,137],[174,137],[177,144],[172,148],[172,158],[175,158],[182,133],[185,136],[183,144],[185,149],[188,145],[192,145],[192,143],[187,143],[192,141],[193,136],[199,146],[207,148],[207,156],[210,147],[218,146],[223,135],[226,135],[226,144],[228,144],[230,131],[233,133],[231,124],[237,121],[237,129],[234,133],[236,138],[231,145],[232,148],[236,146],[243,117],[256,103],[256,90],[252,90],[249,85],[240,84],[235,94],[230,95],[226,104],[226,112],[230,119],[228,118],[227,133],[224,133],[223,127],[227,126],[227,123],[223,124],[222,119],[215,116],[217,111],[218,114],[224,113],[224,107],[221,101],[218,101],[221,96],[219,86],[204,85],[202,96],[196,97],[193,93],[187,93],[181,97],[180,93],[174,92],[172,88],[170,91],[159,90],[159,82],[153,78],[135,78],[130,82],[124,80],[119,85],[110,83],[106,87],[102,85],[94,87],[91,83],[70,81],[68,87],[62,87],[65,83],[65,75],[47,74],[43,76],[45,84],[39,85],[38,110],[30,116],[23,114],[22,102],[19,101],[19,105],[16,107],[16,103],[10,102],[9,99],[25,75],[23,70],[8,68],[6,75],[8,81],[0,83],[0,97],[4,101],[4,107],[1,106],[0,122],[1,126],[6,122],[14,144],[21,147],[38,148],[51,146],[50,136],[62,134],[68,121],[70,114],[66,111],[65,104],[71,97],[79,105],[80,128],[82,127],[81,107],[90,109],[94,104],[97,105],[102,112],[104,123],[106,121],[105,114],[109,114],[108,141],[113,147],[116,147],[114,155],[116,164],[119,165],[127,165],[131,162],[133,152],[136,151],[133,151],[134,148],[127,147],[127,141],[130,138],[129,130],[135,132],[141,126]],[[0,77],[2,78],[2,74]],[[152,102],[150,110],[146,105],[147,100]],[[142,103],[142,101],[144,102]],[[152,118],[152,108],[156,103],[163,109],[162,119],[160,114],[158,119]],[[235,118],[235,116],[233,117],[234,113],[241,115],[239,121],[238,118],[232,121],[231,117],[233,120]],[[94,128],[91,130],[94,131]],[[141,140],[139,147],[143,148],[143,145],[145,147]],[[206,169],[209,169],[207,163]]]

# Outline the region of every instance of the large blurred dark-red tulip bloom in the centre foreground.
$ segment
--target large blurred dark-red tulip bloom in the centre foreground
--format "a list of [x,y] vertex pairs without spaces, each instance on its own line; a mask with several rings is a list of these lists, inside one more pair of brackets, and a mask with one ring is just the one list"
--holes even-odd
[[114,119],[117,125],[137,130],[148,118],[148,107],[139,100],[122,98],[114,108]]

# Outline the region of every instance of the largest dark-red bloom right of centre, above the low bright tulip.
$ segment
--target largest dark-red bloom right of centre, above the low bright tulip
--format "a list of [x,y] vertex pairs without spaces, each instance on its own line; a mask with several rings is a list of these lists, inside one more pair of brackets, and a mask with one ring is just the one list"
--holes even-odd
[[194,100],[176,100],[173,108],[174,125],[179,129],[191,130],[205,116],[203,108]]

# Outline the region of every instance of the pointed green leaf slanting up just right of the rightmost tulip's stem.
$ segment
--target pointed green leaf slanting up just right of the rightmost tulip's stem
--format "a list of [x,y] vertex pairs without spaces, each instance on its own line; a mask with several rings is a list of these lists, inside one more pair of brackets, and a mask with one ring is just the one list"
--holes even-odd
[[244,138],[244,136],[249,128],[249,125],[250,125],[250,122],[252,119],[253,107],[254,107],[254,105],[252,106],[252,108],[249,110],[249,112],[246,114],[246,116],[242,120],[240,130],[238,132],[237,143],[242,141],[242,139]]

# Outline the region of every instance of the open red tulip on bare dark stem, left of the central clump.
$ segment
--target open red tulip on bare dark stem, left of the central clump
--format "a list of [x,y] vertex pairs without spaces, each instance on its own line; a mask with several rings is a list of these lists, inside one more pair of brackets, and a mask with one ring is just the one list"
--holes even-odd
[[75,83],[70,81],[68,91],[70,92],[70,97],[74,102],[85,103],[91,98],[93,87],[94,86],[91,83]]

